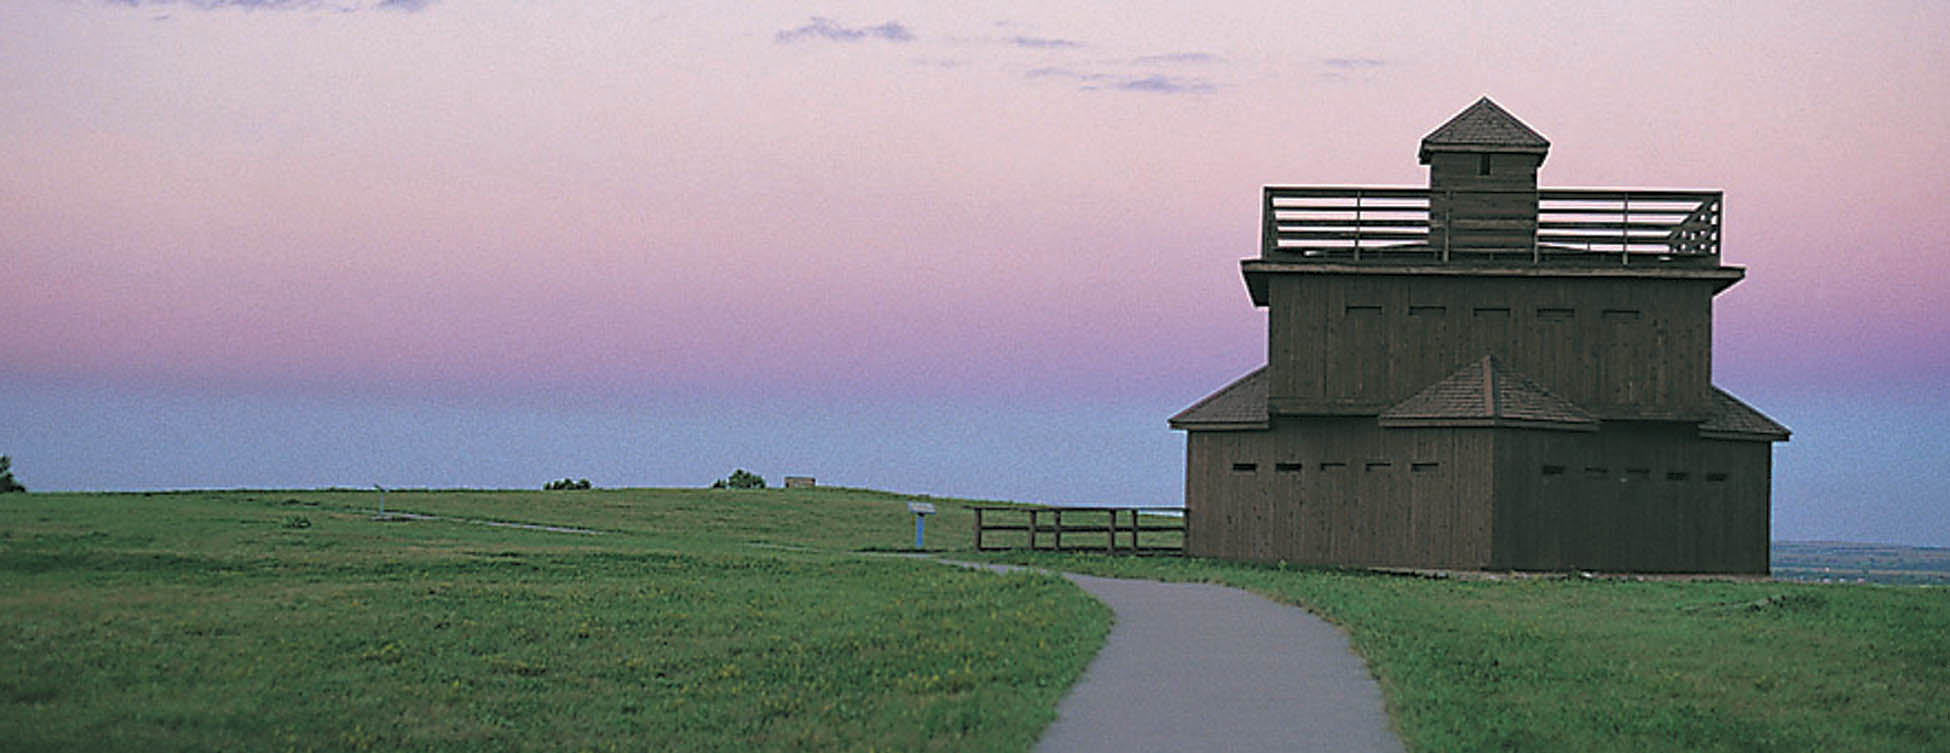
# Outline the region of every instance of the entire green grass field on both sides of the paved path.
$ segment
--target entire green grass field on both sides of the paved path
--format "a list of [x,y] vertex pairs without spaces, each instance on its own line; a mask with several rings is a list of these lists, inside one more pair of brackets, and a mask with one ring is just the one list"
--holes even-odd
[[[1110,614],[864,490],[0,495],[0,749],[1024,751]],[[932,499],[934,550],[971,513]],[[1412,751],[1950,749],[1950,591],[1008,554],[1346,626]],[[1168,648],[1160,648],[1168,650]]]

